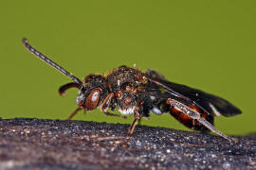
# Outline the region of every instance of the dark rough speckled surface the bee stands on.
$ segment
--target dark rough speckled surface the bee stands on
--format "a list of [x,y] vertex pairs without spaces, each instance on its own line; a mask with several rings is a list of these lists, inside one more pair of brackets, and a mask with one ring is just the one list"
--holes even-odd
[[256,169],[256,138],[129,125],[0,120],[0,169]]

